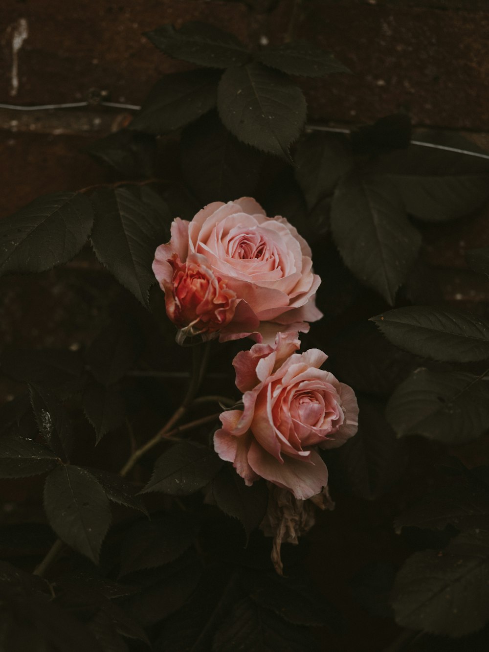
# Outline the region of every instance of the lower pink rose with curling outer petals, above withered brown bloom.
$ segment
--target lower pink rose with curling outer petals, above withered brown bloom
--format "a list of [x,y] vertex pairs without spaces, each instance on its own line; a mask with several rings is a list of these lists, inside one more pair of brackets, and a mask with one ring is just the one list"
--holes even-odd
[[312,447],[336,448],[357,432],[351,387],[319,369],[318,349],[295,353],[297,333],[255,344],[233,360],[244,409],[222,413],[216,452],[250,485],[259,477],[305,500],[327,486],[328,472]]

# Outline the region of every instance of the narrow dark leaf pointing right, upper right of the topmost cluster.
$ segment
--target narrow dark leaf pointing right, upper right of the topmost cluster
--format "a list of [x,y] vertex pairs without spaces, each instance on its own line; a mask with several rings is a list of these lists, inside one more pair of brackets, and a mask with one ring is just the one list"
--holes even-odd
[[256,58],[271,68],[301,77],[323,77],[331,72],[351,72],[335,59],[331,52],[321,50],[306,40],[269,46],[256,53]]

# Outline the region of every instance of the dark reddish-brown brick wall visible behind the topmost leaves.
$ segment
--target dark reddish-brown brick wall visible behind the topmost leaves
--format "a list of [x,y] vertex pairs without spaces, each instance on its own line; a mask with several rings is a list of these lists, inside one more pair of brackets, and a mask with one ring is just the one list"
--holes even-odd
[[[310,121],[364,123],[399,110],[415,125],[489,130],[488,0],[2,0],[0,102],[80,102],[106,93],[140,104],[186,65],[143,33],[202,20],[246,42],[289,31],[331,50],[353,74],[303,84]],[[80,153],[130,111],[0,109],[0,216],[100,174]]]

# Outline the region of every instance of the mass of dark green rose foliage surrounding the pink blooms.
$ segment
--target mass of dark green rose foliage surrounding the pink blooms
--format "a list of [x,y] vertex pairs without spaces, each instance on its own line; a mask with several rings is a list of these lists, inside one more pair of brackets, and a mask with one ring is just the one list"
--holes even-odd
[[[312,246],[325,318],[303,342],[329,353],[327,368],[359,397],[358,434],[321,453],[336,511],[344,495],[375,501],[408,484],[404,437],[434,442],[441,480],[407,494],[394,524],[412,554],[357,578],[359,600],[406,628],[395,649],[482,649],[489,470],[447,447],[489,429],[487,306],[443,301],[424,254],[426,237],[488,200],[488,158],[450,151],[481,153],[453,134],[417,134],[449,150],[410,144],[405,115],[351,134],[307,128],[297,78],[349,72],[314,44],[252,52],[201,23],[147,37],[198,68],[162,78],[127,128],[91,145],[113,181],[42,196],[0,222],[1,273],[78,256],[120,284],[87,346],[1,352],[13,389],[0,477],[44,484],[42,496],[39,483],[27,490],[25,522],[0,528],[1,649],[310,652],[348,627],[304,566],[334,560],[285,545],[278,576],[258,529],[267,485],[245,486],[213,450],[218,414],[241,400],[231,360],[250,342],[179,348],[151,271],[173,218],[240,196]],[[467,264],[489,274],[489,247]]]

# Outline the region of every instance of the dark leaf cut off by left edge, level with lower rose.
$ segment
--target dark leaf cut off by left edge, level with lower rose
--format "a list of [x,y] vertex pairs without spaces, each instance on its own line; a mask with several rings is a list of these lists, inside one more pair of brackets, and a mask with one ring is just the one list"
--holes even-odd
[[53,469],[57,456],[46,446],[12,432],[0,437],[0,477],[25,478]]

